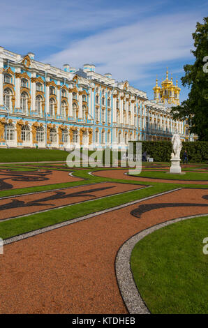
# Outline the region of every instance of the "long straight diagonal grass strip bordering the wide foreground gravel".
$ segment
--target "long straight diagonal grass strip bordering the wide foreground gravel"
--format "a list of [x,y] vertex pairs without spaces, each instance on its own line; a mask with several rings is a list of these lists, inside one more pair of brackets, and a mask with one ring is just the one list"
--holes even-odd
[[62,209],[53,209],[39,214],[24,216],[22,218],[14,218],[9,221],[0,222],[0,237],[6,239],[17,234],[44,228],[48,225],[54,225],[73,218],[79,218],[80,216],[95,213],[96,211],[110,209],[111,207],[125,204],[126,202],[155,195],[156,193],[170,191],[173,188],[177,187],[174,184],[158,184],[147,189],[114,195],[101,200],[94,200],[93,202],[74,204]]

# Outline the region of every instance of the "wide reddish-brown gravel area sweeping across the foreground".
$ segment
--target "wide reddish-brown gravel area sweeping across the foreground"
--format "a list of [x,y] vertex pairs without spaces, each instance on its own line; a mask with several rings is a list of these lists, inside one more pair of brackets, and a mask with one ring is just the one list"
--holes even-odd
[[[152,225],[207,214],[206,198],[207,189],[182,188],[6,245],[0,313],[127,313],[114,274],[121,244]],[[153,202],[181,206],[131,214]]]

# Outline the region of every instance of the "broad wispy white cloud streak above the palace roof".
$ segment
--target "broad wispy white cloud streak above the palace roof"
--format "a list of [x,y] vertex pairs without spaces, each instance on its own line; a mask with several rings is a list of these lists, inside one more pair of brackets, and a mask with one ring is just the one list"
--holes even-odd
[[77,40],[45,61],[79,67],[96,64],[99,73],[110,72],[116,79],[139,80],[158,63],[167,66],[191,56],[191,33],[200,15],[158,15],[128,26],[108,29]]

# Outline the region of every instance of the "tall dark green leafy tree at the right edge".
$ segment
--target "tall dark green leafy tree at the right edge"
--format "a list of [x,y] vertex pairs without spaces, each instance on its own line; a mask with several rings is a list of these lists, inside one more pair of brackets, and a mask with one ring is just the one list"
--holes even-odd
[[181,77],[182,85],[191,88],[188,99],[181,105],[172,107],[174,119],[188,119],[190,133],[198,135],[198,140],[208,141],[208,17],[205,24],[196,24],[196,31],[192,33],[195,50],[193,65],[185,65],[185,76]]

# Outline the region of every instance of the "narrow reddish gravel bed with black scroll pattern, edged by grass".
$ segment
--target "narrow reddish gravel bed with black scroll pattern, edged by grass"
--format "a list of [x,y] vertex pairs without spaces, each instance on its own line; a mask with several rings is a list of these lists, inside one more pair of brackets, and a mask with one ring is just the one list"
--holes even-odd
[[138,184],[103,182],[44,193],[0,198],[0,220],[84,202],[85,200],[95,200],[98,197],[133,191],[142,187],[144,186]]

